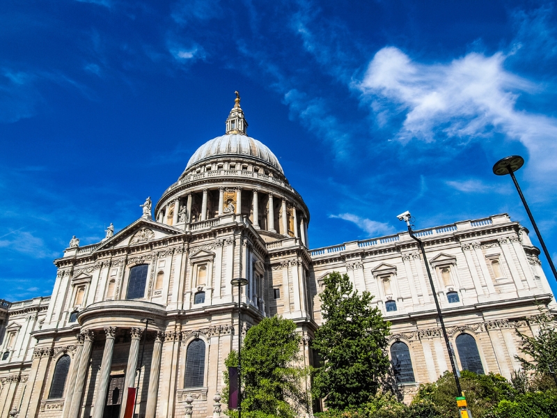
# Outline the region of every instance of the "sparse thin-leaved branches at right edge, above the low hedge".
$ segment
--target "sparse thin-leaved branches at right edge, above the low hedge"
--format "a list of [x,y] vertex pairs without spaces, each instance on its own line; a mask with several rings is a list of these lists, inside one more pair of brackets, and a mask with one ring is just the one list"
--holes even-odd
[[521,352],[530,358],[515,356],[525,371],[532,371],[538,375],[549,374],[549,364],[557,369],[557,329],[553,316],[540,307],[541,314],[533,322],[537,323],[540,331],[535,336],[527,336],[519,330]]

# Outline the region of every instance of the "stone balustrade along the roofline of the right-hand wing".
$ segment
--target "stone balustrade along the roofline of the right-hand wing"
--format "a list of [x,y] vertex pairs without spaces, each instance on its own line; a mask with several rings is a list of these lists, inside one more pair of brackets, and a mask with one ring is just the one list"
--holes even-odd
[[[433,237],[435,235],[445,235],[445,234],[453,233],[455,231],[492,225],[494,224],[494,219],[496,223],[508,222],[507,215],[494,215],[492,217],[484,218],[484,219],[475,219],[473,221],[457,222],[457,224],[452,224],[452,225],[444,225],[444,226],[437,226],[435,228],[430,228],[430,229],[422,229],[416,231],[414,235],[416,235],[417,237],[425,237],[425,238]],[[345,242],[345,244],[343,245],[331,245],[330,247],[312,249],[310,251],[310,254],[312,257],[326,256],[327,254],[331,254],[333,252],[345,251],[345,249],[352,250],[358,248],[371,247],[375,245],[389,245],[392,244],[393,242],[397,242],[400,240],[411,240],[411,238],[409,237],[407,232],[403,232],[403,233],[398,233],[397,235],[389,235],[380,238],[370,238],[369,240]]]

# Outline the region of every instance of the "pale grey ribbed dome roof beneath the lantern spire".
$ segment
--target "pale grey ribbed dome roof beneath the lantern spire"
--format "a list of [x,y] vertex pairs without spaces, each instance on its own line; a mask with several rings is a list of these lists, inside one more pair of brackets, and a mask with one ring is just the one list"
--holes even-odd
[[198,162],[214,157],[249,157],[262,163],[269,164],[284,175],[278,159],[267,146],[257,139],[243,134],[226,134],[205,142],[197,148],[194,155],[187,162],[186,170]]

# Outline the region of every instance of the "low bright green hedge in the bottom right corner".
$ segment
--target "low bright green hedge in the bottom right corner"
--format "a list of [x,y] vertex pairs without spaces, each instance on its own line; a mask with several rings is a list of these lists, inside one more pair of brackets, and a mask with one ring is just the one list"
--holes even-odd
[[555,418],[557,395],[554,392],[531,392],[518,395],[514,401],[499,402],[486,418]]

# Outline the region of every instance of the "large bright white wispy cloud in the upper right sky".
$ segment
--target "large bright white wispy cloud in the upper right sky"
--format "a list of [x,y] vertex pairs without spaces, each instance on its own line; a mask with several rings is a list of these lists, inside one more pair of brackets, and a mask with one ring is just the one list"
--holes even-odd
[[503,68],[505,56],[470,53],[445,64],[421,64],[395,47],[380,49],[356,84],[379,125],[405,116],[400,141],[471,141],[503,134],[526,146],[532,176],[557,171],[557,120],[516,108],[519,93],[538,86]]

